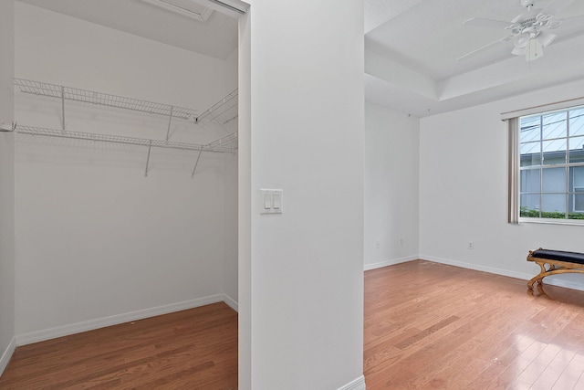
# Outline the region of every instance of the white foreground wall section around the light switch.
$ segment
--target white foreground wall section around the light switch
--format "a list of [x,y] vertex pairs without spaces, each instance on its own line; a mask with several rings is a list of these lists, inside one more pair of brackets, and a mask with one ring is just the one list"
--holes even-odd
[[[250,3],[239,47],[239,386],[364,388],[363,3]],[[283,189],[284,214],[259,214],[261,188]]]

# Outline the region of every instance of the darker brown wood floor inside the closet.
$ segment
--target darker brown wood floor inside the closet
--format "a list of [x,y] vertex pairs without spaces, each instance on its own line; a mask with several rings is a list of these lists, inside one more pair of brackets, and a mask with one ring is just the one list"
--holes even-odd
[[236,389],[237,313],[215,303],[16,348],[3,390]]

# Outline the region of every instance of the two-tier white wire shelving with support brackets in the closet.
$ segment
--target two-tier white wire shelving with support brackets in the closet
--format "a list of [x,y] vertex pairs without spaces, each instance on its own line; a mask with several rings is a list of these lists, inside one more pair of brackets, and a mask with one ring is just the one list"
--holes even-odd
[[[225,124],[229,121],[233,121],[237,118],[230,118],[226,121],[220,122],[218,118],[220,115],[228,111],[236,109],[237,106],[237,95],[238,91],[234,90],[229,93],[224,99],[216,102],[211,108],[203,111],[202,114],[198,114],[198,111],[193,109],[188,109],[184,107],[173,106],[169,104],[157,103],[148,100],[138,100],[117,95],[111,95],[102,92],[96,92],[92,90],[81,90],[78,88],[71,88],[60,86],[56,84],[50,84],[46,82],[40,82],[30,79],[14,79],[16,87],[21,92],[35,94],[39,96],[47,96],[52,98],[57,98],[61,100],[61,115],[62,115],[62,129],[48,129],[42,127],[34,126],[23,126],[16,124],[14,130],[19,133],[29,134],[29,135],[43,135],[48,137],[58,137],[58,138],[69,138],[77,140],[89,140],[89,141],[99,141],[99,142],[115,142],[131,145],[140,145],[148,147],[148,157],[146,160],[146,171],[145,175],[148,175],[148,168],[150,163],[151,148],[165,148],[165,149],[179,149],[184,151],[198,151],[197,159],[193,167],[193,174],[196,171],[197,165],[201,158],[203,152],[211,153],[235,153],[236,142],[237,142],[237,132],[231,132],[224,137],[218,138],[212,142],[205,144],[191,143],[191,142],[172,142],[169,141],[170,129],[173,118],[181,119],[184,121],[192,121],[193,123],[200,123],[201,121],[211,118],[213,121],[217,121],[220,124]],[[130,111],[141,111],[151,114],[158,114],[162,116],[167,116],[169,118],[168,128],[166,131],[165,140],[153,140],[138,137],[128,137],[120,135],[107,135],[99,134],[94,132],[71,132],[65,130],[65,100],[81,101],[85,103],[92,103],[102,106],[114,107],[123,110]]]

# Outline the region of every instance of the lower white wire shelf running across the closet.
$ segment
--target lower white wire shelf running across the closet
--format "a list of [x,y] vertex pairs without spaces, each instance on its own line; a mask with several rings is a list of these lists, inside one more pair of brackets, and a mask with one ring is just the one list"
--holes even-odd
[[[33,126],[16,125],[16,132],[29,135],[44,135],[47,137],[69,138],[76,140],[88,140],[99,142],[115,142],[130,145],[140,145],[146,147],[157,147],[165,149],[180,149],[183,151],[214,152],[214,153],[235,153],[235,148],[223,146],[225,142],[221,139],[207,144],[197,144],[188,142],[170,142],[161,140],[149,140],[145,138],[125,137],[120,135],[97,134],[92,132],[69,132],[65,130],[47,129]],[[233,136],[232,134],[226,137]],[[236,134],[235,134],[236,137]]]

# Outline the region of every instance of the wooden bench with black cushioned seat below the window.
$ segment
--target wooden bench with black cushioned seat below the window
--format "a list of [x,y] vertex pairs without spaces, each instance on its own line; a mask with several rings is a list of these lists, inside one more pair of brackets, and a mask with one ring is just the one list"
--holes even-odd
[[541,268],[541,272],[527,282],[527,288],[530,290],[533,290],[536,281],[542,284],[541,280],[549,275],[584,273],[584,253],[539,248],[529,251],[527,261],[533,261]]

